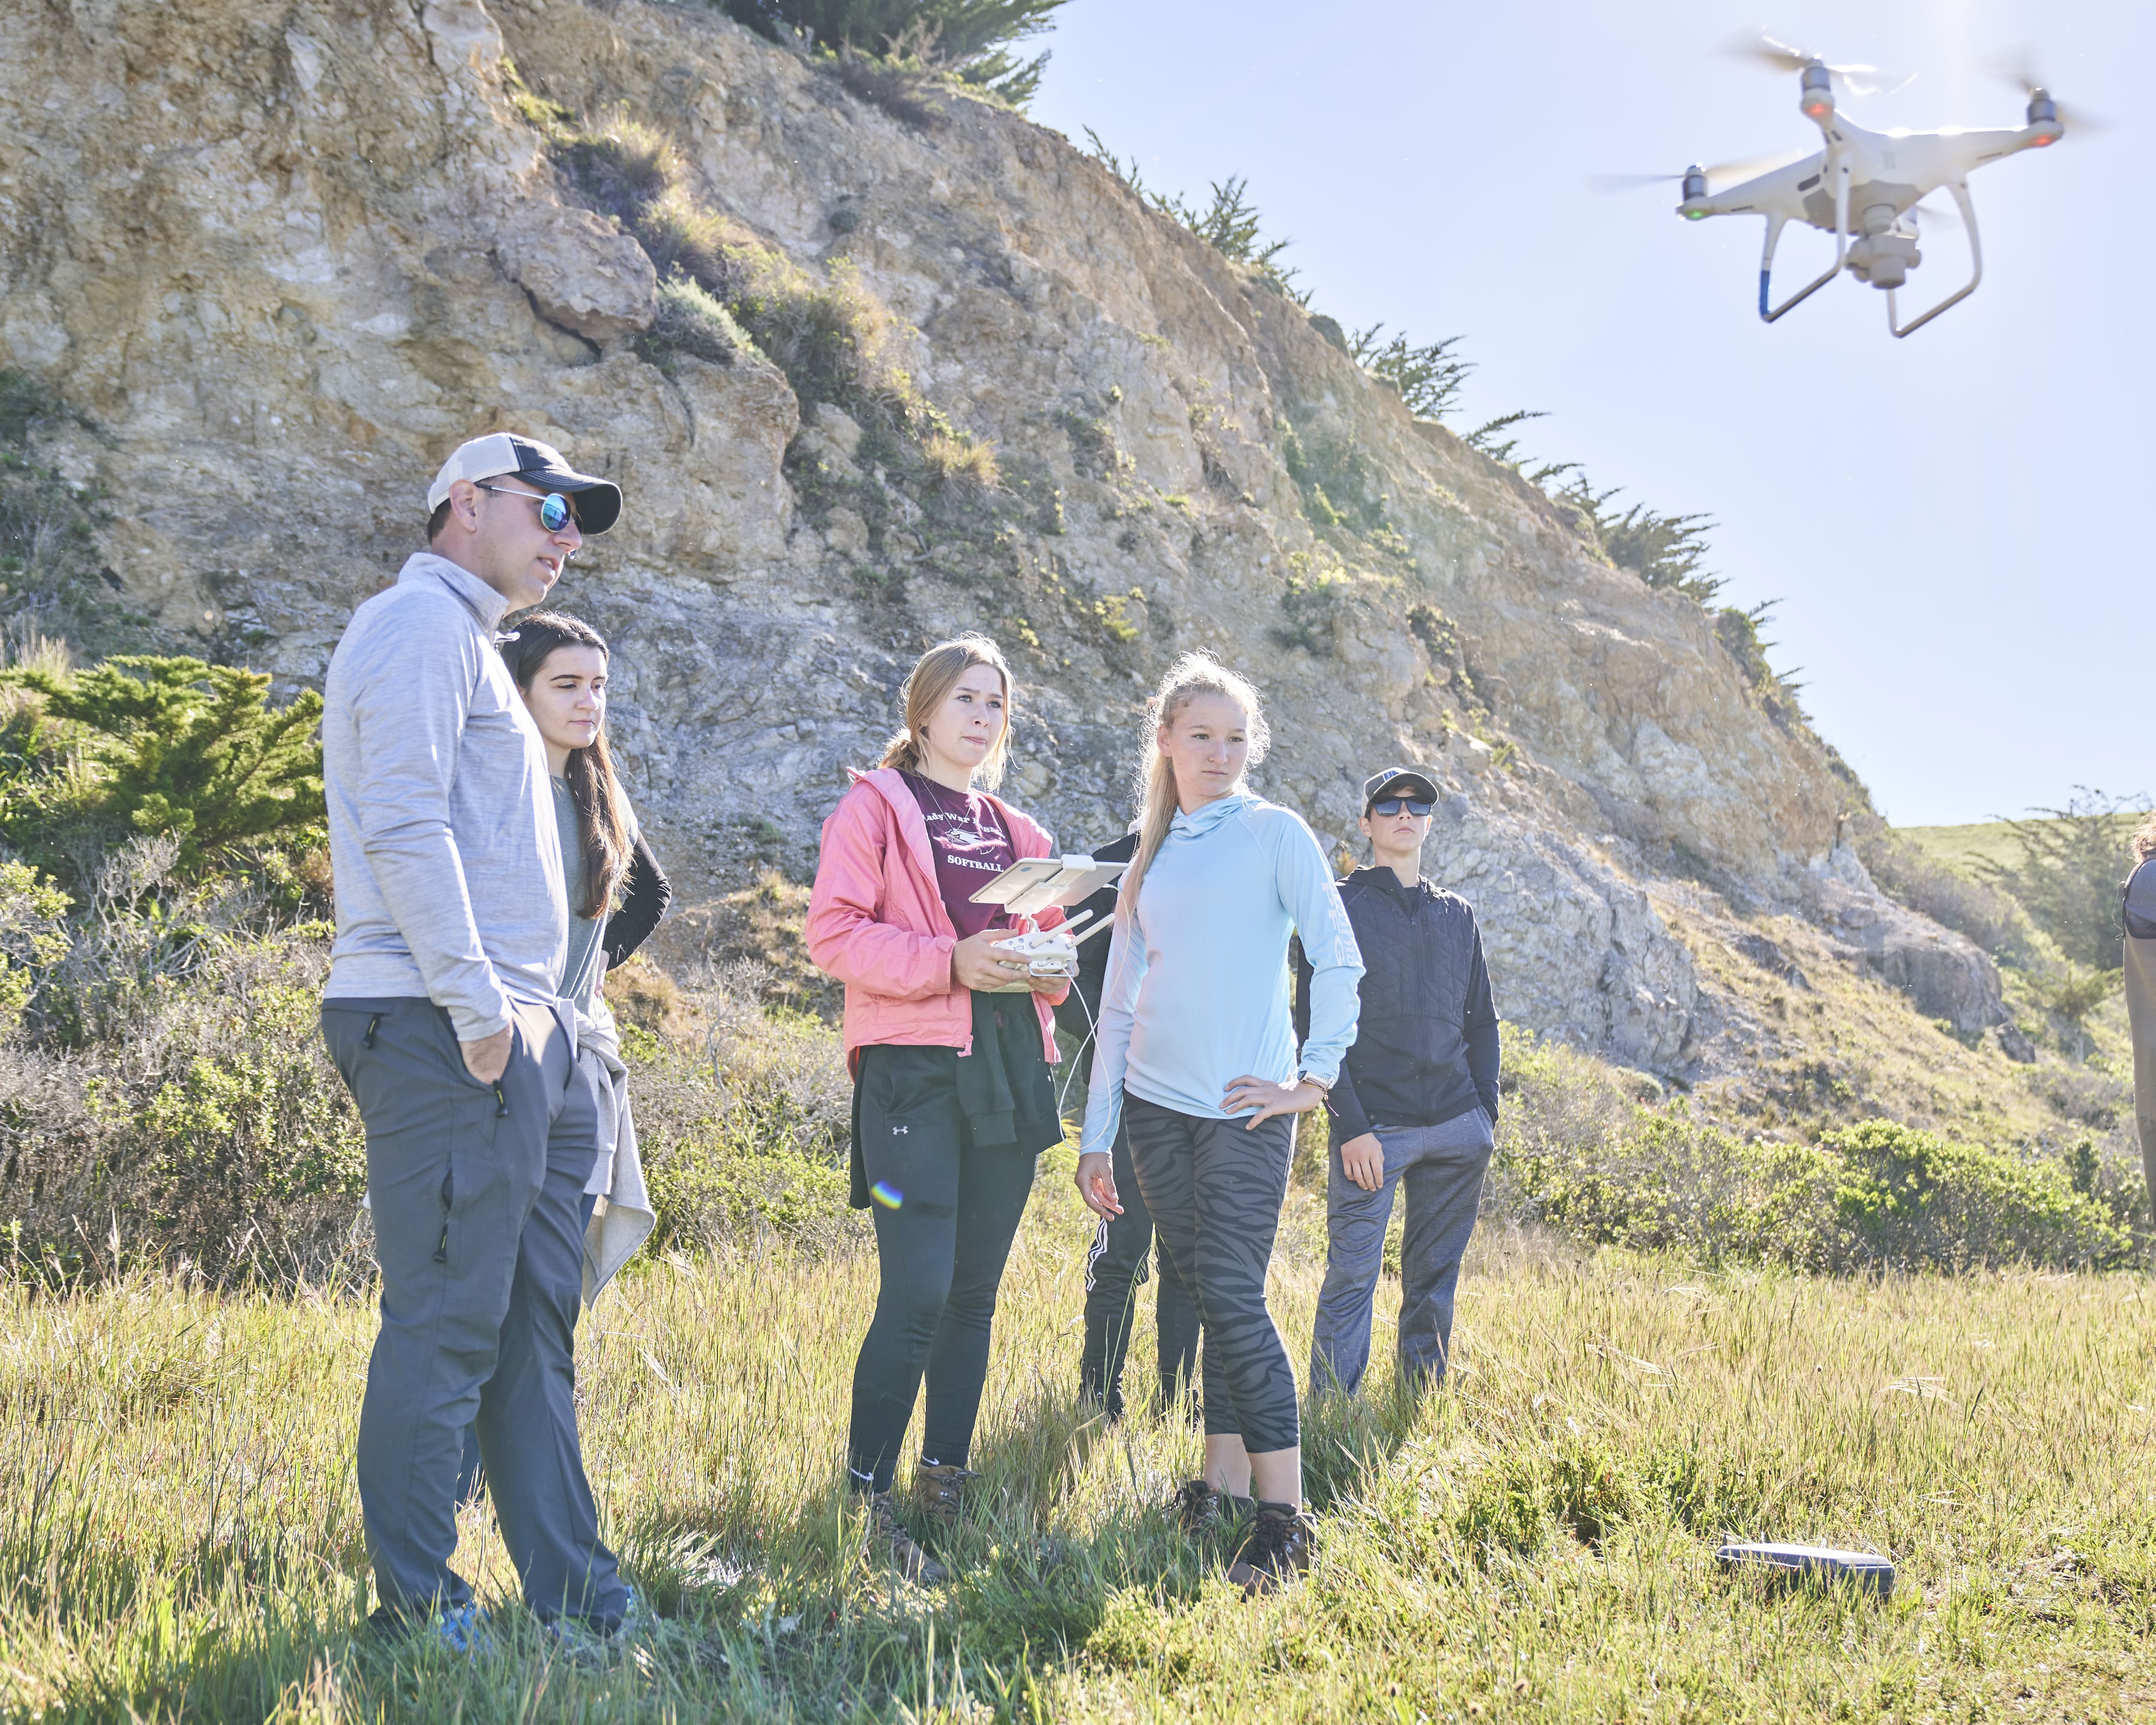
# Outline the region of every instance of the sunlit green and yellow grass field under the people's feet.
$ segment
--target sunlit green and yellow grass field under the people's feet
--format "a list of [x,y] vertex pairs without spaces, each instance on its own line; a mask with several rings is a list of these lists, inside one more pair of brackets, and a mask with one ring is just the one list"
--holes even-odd
[[[1485,1229],[1453,1386],[1307,1430],[1317,1568],[1246,1604],[1158,1516],[1199,1440],[1074,1408],[1084,1223],[1048,1158],[979,1516],[921,1591],[837,1494],[873,1259],[647,1264],[582,1337],[610,1537],[671,1613],[602,1669],[360,1628],[362,1298],[0,1294],[4,1719],[1975,1721],[2156,1710],[2156,1300],[2132,1276],[1830,1281]],[[1322,1216],[1274,1309],[1300,1363]],[[1380,1292],[1388,1313],[1395,1289]],[[1386,1330],[1380,1326],[1380,1348]],[[1141,1343],[1132,1378],[1149,1380]],[[492,1527],[459,1563],[496,1604]],[[1725,1533],[1893,1552],[1887,1604],[1723,1578]]]

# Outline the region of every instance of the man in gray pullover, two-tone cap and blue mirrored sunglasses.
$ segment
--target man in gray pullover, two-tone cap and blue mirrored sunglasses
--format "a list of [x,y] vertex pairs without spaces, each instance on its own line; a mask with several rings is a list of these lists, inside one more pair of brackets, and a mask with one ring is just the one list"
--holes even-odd
[[358,1481],[382,1626],[474,1641],[448,1568],[464,1427],[545,1619],[619,1628],[576,1438],[578,1201],[597,1110],[556,998],[569,938],[548,757],[496,651],[621,492],[509,433],[448,457],[429,550],[362,604],[323,692],[336,944],[321,1026],[367,1123],[382,1330]]

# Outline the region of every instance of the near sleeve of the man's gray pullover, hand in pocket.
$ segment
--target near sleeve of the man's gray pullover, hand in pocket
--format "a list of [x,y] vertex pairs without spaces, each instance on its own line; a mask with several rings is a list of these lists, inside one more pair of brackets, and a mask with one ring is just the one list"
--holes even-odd
[[448,817],[479,651],[464,632],[420,623],[375,638],[354,666],[360,735],[360,847],[427,998],[448,1011],[459,1041],[509,1029],[509,992],[472,914],[464,856]]

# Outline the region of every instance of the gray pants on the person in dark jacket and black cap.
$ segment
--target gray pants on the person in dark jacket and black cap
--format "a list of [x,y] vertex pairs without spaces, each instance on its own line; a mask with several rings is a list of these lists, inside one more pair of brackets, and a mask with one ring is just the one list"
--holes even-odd
[[1453,1346],[1453,1289],[1475,1231],[1492,1130],[1481,1108],[1442,1126],[1380,1126],[1384,1182],[1365,1192],[1332,1149],[1326,1175],[1326,1285],[1311,1337],[1311,1391],[1360,1389],[1369,1365],[1369,1305],[1384,1266],[1393,1188],[1406,1184],[1408,1216],[1399,1248],[1399,1376],[1416,1386],[1445,1380]]

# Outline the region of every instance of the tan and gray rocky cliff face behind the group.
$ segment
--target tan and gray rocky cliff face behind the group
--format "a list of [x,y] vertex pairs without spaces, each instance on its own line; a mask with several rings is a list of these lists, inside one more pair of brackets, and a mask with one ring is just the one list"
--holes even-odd
[[[625,522],[558,602],[614,640],[614,733],[690,895],[806,871],[927,640],[1011,651],[1009,789],[1072,845],[1121,830],[1145,692],[1212,647],[1270,696],[1261,789],[1328,841],[1363,772],[1436,770],[1429,865],[1514,1018],[1695,1067],[1712,990],[1649,893],[1686,875],[1740,916],[1839,919],[1854,962],[1986,1022],[1988,962],[1837,852],[1852,789],[1697,606],[1061,136],[852,82],[884,99],[692,4],[17,9],[0,362],[75,414],[34,457],[95,487],[140,627],[289,686],[459,440],[515,427],[614,474]],[[653,339],[647,246],[561,149],[621,114],[699,220],[845,300],[940,466],[800,362]],[[994,474],[953,468],[983,444]]]

